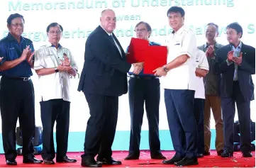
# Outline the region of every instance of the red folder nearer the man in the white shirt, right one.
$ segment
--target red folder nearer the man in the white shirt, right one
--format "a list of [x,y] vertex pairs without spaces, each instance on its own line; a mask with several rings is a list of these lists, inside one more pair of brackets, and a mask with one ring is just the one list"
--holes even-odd
[[152,72],[157,67],[167,64],[167,47],[150,45],[144,57],[144,74],[155,74]]

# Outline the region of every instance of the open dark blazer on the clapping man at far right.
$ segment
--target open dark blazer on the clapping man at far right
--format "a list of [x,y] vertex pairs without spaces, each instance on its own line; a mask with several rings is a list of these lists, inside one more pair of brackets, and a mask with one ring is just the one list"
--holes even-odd
[[[215,69],[221,74],[221,97],[231,97],[233,94],[233,77],[235,64],[227,64],[228,52],[232,50],[230,45],[221,47],[216,53]],[[243,101],[254,100],[254,84],[252,74],[255,74],[255,48],[242,43],[241,52],[243,60],[238,66],[238,82],[243,94]]]

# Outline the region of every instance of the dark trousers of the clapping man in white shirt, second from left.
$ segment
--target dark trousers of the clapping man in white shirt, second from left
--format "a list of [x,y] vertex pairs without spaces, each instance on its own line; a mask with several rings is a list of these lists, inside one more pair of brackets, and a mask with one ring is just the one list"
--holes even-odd
[[53,127],[56,121],[56,158],[62,159],[67,153],[69,135],[70,102],[63,99],[41,101],[41,120],[43,125],[43,159],[55,158]]

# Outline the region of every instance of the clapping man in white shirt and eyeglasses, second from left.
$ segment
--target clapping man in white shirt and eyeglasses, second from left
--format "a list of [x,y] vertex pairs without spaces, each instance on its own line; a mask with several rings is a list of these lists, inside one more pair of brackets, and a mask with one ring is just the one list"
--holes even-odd
[[67,157],[69,134],[70,76],[77,74],[77,65],[71,52],[60,45],[63,28],[51,23],[47,28],[49,43],[35,52],[34,69],[39,76],[42,101],[43,152],[45,164],[55,164],[53,126],[56,125],[56,162],[77,162]]

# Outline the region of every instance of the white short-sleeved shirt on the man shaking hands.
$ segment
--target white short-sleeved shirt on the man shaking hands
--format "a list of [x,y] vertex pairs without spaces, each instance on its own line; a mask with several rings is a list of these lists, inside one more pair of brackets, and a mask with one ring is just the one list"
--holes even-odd
[[189,58],[183,65],[171,69],[161,79],[164,89],[189,89],[196,90],[196,36],[194,32],[182,26],[177,32],[172,33],[167,39],[168,56],[167,63],[172,62],[181,55],[188,55]]

